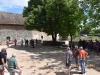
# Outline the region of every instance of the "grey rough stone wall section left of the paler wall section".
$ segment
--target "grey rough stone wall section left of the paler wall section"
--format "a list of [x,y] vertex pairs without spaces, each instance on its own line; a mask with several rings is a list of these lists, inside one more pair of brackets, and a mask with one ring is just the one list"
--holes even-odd
[[32,31],[27,30],[0,30],[0,42],[5,42],[7,37],[10,37],[10,40],[20,40],[20,39],[31,39]]

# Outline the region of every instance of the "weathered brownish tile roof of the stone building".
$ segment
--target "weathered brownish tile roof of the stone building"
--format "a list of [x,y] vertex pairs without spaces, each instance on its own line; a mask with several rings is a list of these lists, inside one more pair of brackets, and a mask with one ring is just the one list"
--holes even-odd
[[24,18],[22,14],[0,11],[0,24],[24,25]]

